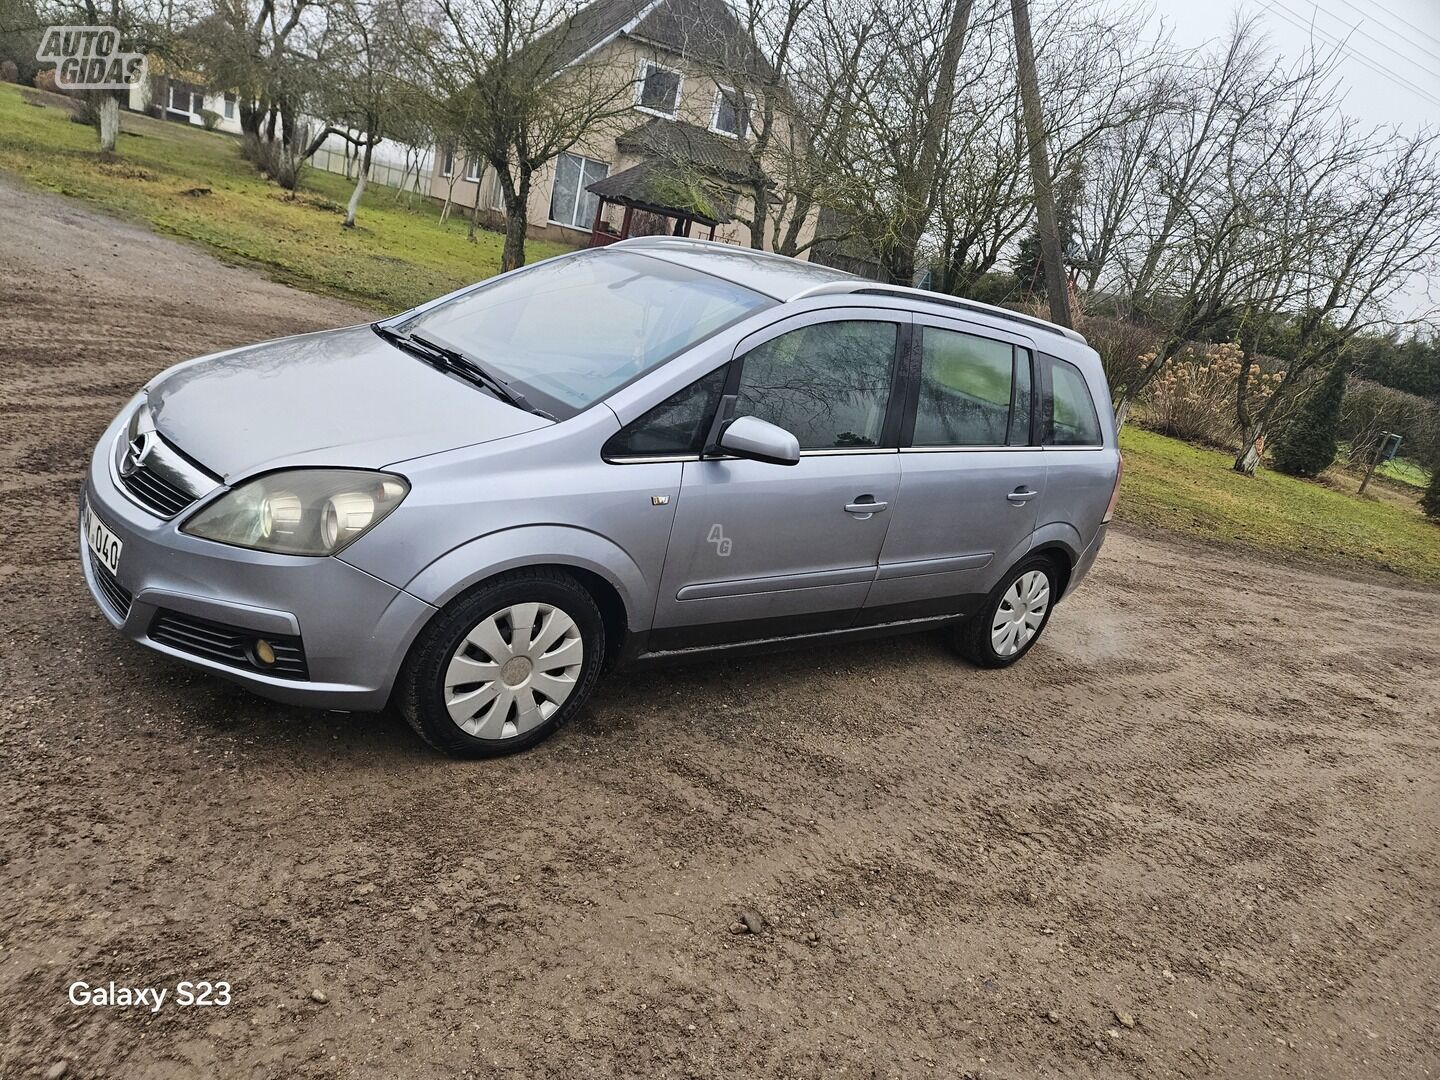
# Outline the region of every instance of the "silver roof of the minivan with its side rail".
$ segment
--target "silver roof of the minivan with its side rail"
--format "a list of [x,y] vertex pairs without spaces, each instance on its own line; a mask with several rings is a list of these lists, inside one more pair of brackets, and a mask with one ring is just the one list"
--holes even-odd
[[831,266],[822,266],[816,262],[792,259],[753,248],[737,248],[733,243],[693,240],[685,236],[636,236],[611,245],[606,251],[619,248],[681,266],[690,266],[704,274],[713,274],[717,278],[733,281],[736,285],[760,292],[783,304],[822,295],[891,297],[904,301],[903,307],[907,308],[922,304],[942,310],[949,308],[950,311],[959,308],[969,314],[1021,324],[1031,331],[1038,330],[1048,334],[1058,334],[1070,341],[1086,344],[1084,337],[1068,327],[1011,311],[1009,308],[998,308],[991,304],[962,300],[960,297],[950,297],[943,292],[887,285],[854,274],[845,274]]

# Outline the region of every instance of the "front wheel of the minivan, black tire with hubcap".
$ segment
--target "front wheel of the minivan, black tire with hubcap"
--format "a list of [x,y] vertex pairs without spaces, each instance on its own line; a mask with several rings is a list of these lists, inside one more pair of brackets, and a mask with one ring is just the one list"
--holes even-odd
[[396,703],[436,750],[500,757],[579,713],[603,661],[605,621],[590,593],[560,570],[517,570],[451,602],[420,631]]

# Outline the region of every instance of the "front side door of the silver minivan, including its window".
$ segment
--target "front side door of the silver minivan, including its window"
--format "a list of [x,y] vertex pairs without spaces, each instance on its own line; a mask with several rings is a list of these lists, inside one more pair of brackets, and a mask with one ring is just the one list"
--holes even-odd
[[854,624],[900,484],[893,318],[812,312],[742,343],[733,412],[792,432],[801,461],[685,462],[651,648]]

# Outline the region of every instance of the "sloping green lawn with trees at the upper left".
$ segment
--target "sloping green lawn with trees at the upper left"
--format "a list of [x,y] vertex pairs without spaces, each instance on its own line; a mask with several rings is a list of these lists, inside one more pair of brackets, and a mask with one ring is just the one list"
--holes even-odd
[[[121,118],[118,156],[105,161],[92,128],[73,124],[56,98],[37,108],[0,84],[0,170],[84,199],[158,232],[203,243],[229,262],[258,264],[312,292],[399,311],[500,269],[501,236],[465,239],[464,213],[446,223],[419,196],[396,202],[372,184],[356,229],[343,229],[351,183],[311,168],[297,199],[264,180],[230,135],[151,120]],[[209,187],[210,194],[184,192]],[[530,240],[531,261],[569,251]]]

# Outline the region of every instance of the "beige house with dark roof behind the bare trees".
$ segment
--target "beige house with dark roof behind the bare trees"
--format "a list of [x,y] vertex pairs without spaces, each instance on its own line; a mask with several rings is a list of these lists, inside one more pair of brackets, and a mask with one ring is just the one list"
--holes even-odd
[[[757,85],[768,68],[724,0],[596,0],[562,33],[557,78],[570,65],[606,66],[631,88],[632,105],[536,174],[530,235],[599,245],[681,232],[747,246],[749,228],[737,219],[750,215],[742,181],[753,164],[746,140],[755,101],[724,73]],[[783,132],[789,118],[775,124]],[[454,150],[436,150],[429,193],[465,207],[478,202],[491,225],[504,219],[494,170]]]

